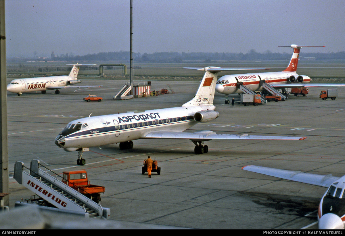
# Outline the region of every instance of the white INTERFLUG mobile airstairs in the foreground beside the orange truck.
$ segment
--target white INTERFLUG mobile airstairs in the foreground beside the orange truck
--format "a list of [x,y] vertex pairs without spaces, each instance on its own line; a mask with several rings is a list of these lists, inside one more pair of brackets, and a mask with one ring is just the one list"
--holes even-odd
[[[56,176],[48,174],[47,172],[52,172],[48,168],[44,167],[43,171],[40,167],[43,166],[38,160],[31,161],[30,169],[24,167],[23,162],[17,161],[14,165],[13,177],[59,211],[83,214],[88,218],[110,218],[109,208],[102,207],[100,203],[92,201],[58,180],[58,174]],[[62,177],[59,177],[62,180]]]

